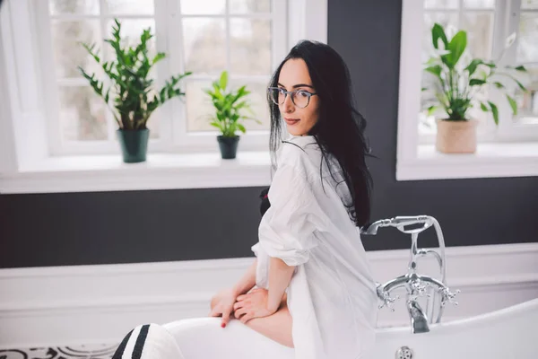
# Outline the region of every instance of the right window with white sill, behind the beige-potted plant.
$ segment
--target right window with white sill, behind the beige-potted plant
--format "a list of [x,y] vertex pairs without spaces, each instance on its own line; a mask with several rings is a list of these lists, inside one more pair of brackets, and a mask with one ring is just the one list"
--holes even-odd
[[[480,122],[478,149],[473,154],[438,153],[433,145],[434,117],[428,118],[423,110],[431,94],[421,91],[430,81],[423,68],[433,47],[433,22],[452,27],[452,31],[468,31],[468,52],[486,59],[499,57],[508,36],[516,32],[515,44],[498,65],[524,65],[532,74],[519,78],[529,93],[518,92],[514,83],[507,82],[516,97],[517,116],[512,115],[508,101],[495,86],[480,93],[499,106],[499,127],[490,113],[473,111]],[[538,176],[538,2],[404,1],[401,34],[396,180]]]

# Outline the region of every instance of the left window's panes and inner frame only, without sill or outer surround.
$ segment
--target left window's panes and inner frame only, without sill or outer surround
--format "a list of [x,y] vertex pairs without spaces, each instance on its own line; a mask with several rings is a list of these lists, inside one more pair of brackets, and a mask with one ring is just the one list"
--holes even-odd
[[150,53],[166,52],[154,72],[159,88],[172,74],[193,72],[183,80],[182,99],[152,114],[150,152],[189,152],[216,148],[210,98],[204,93],[221,71],[230,86],[246,84],[261,125],[246,121],[242,149],[266,145],[269,114],[265,88],[277,62],[285,56],[285,0],[33,0],[39,34],[39,57],[47,104],[51,153],[117,153],[117,123],[104,101],[78,71],[82,66],[106,76],[81,42],[95,43],[105,58],[114,57],[108,39],[117,18],[126,41],[151,28]]

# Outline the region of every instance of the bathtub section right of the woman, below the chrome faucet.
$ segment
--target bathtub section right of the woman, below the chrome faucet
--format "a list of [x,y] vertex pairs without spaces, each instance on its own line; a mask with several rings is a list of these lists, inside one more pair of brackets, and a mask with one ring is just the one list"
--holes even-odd
[[412,349],[413,359],[538,359],[538,299],[434,324],[429,333],[379,329],[374,358],[395,358],[402,346]]

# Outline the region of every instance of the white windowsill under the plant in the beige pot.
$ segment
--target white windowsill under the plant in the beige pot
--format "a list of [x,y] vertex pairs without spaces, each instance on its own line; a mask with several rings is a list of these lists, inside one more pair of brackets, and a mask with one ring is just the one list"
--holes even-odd
[[396,162],[396,180],[538,176],[538,142],[478,144],[473,154],[438,153],[418,146],[417,158]]

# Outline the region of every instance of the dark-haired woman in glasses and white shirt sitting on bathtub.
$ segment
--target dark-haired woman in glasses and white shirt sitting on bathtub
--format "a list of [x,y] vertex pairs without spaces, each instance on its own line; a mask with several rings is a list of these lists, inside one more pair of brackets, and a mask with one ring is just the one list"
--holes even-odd
[[333,48],[301,41],[273,74],[268,97],[271,206],[262,205],[256,261],[213,297],[210,316],[221,317],[220,330],[238,346],[247,333],[269,338],[265,354],[367,358],[377,293],[359,229],[369,222],[371,177],[349,71]]

